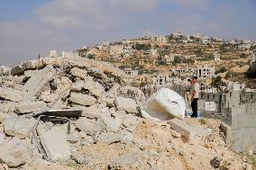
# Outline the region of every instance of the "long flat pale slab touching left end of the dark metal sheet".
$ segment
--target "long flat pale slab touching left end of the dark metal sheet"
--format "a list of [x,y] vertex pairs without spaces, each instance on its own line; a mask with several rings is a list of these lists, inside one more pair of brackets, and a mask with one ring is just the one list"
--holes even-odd
[[29,113],[29,112],[40,112],[50,109],[46,103],[43,101],[37,102],[23,102],[17,104],[17,112],[20,114]]

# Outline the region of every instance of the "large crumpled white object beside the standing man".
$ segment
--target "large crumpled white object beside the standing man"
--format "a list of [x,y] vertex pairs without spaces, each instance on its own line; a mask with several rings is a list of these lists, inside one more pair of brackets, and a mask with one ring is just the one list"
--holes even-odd
[[168,88],[161,88],[142,106],[142,116],[167,121],[176,117],[184,118],[185,110],[186,103],[182,96]]

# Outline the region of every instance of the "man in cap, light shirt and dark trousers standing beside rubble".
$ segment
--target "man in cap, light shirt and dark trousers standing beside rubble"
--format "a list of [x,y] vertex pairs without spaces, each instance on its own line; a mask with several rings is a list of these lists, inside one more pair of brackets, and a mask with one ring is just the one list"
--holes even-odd
[[197,76],[193,76],[191,81],[192,83],[192,92],[191,92],[191,107],[192,107],[192,118],[197,118],[197,101],[199,97],[200,85],[198,84]]

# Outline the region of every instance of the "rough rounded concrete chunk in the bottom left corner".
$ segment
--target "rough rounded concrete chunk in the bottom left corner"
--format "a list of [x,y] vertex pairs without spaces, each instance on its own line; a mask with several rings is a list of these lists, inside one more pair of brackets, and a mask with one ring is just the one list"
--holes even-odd
[[31,161],[31,148],[21,139],[11,139],[0,147],[0,162],[9,167],[22,166]]

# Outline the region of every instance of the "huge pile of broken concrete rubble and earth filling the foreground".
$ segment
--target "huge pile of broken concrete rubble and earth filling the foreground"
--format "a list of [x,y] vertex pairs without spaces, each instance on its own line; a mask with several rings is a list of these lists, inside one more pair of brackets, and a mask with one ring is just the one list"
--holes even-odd
[[213,169],[215,157],[249,165],[226,147],[219,121],[142,118],[145,97],[109,63],[41,58],[1,75],[0,169]]

